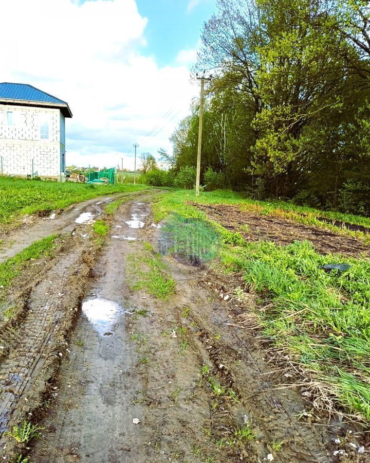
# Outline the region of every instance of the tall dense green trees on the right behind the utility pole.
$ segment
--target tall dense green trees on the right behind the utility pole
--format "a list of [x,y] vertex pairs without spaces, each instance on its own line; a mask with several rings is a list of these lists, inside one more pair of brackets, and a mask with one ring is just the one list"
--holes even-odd
[[[369,215],[369,23],[365,0],[218,0],[194,69],[213,74],[201,182]],[[196,165],[198,105],[161,153],[175,174]]]

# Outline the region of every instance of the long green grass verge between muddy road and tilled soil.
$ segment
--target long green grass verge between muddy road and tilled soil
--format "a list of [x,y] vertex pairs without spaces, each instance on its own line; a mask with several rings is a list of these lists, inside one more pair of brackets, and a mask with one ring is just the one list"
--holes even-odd
[[[163,195],[153,206],[155,219],[171,211],[207,220],[189,192]],[[224,203],[223,195],[201,195],[199,202]],[[231,201],[232,200],[232,201]],[[233,196],[227,204],[245,206]],[[219,225],[213,224],[221,228]],[[292,381],[304,386],[314,406],[342,409],[370,422],[370,261],[320,255],[307,241],[277,246],[246,243],[228,230],[217,268],[243,275],[249,290],[260,295],[250,314]],[[326,273],[327,263],[346,262],[344,272]]]

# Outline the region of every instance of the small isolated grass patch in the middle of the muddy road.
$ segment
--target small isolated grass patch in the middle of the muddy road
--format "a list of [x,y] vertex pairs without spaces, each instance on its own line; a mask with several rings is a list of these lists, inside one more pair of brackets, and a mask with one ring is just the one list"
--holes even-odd
[[146,249],[127,256],[126,276],[134,291],[144,290],[158,299],[168,300],[175,292],[175,281],[166,273],[166,265],[157,253]]

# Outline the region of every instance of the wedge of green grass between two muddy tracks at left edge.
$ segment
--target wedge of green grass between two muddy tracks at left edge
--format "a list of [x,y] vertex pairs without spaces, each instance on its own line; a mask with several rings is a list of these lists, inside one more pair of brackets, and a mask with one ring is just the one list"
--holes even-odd
[[16,256],[0,263],[0,286],[7,288],[20,273],[28,261],[50,257],[55,247],[56,235],[50,235],[40,241],[35,241]]

